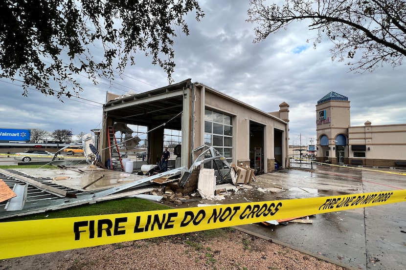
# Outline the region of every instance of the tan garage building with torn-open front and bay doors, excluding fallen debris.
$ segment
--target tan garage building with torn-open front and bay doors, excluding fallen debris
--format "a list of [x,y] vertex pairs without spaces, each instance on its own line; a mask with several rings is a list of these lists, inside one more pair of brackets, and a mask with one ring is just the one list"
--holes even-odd
[[[193,150],[200,145],[213,147],[226,163],[252,168],[255,174],[288,166],[289,105],[286,103],[279,105],[279,111],[264,112],[203,83],[192,83],[191,79],[141,94],[107,96],[99,141],[101,164],[106,166],[113,163],[111,146],[116,144],[117,131],[124,133],[120,142],[129,143],[121,145],[126,150],[138,144],[139,138],[128,126],[147,130],[145,155],[142,161],[131,162],[134,170],[158,164],[168,143],[166,130],[176,131],[180,137],[180,144],[170,147],[171,154],[176,155],[169,160],[171,169],[190,167],[200,154]],[[137,138],[135,143],[134,138]],[[121,166],[124,166],[123,157],[118,157]],[[213,159],[202,167],[221,171],[226,163]]]

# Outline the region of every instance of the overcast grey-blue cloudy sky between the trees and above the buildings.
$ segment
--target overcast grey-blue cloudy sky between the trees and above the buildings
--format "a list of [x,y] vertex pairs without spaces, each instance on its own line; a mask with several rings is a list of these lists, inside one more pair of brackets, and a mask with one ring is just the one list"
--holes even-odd
[[[175,82],[191,78],[263,111],[290,105],[290,143],[302,144],[316,137],[316,104],[335,91],[351,101],[351,125],[406,123],[406,66],[389,65],[373,73],[353,73],[343,62],[332,62],[325,39],[316,49],[308,39],[316,37],[307,22],[253,43],[254,25],[248,19],[248,0],[199,1],[205,17],[188,17],[190,35],[179,35],[175,44]],[[139,54],[114,83],[86,77],[82,99],[44,96],[34,89],[23,97],[18,82],[0,78],[0,127],[71,129],[73,134],[101,128],[106,93],[141,93],[168,84],[166,73]]]

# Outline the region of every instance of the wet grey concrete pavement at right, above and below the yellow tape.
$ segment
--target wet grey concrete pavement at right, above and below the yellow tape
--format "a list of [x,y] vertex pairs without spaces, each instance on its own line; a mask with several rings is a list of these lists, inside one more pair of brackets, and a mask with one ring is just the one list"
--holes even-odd
[[[313,170],[285,169],[258,176],[254,185],[287,190],[258,201],[406,189],[402,175],[370,171],[373,168],[313,166]],[[405,210],[406,203],[398,203],[319,214],[310,217],[313,224],[239,227],[354,269],[404,270]]]

